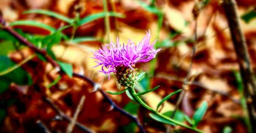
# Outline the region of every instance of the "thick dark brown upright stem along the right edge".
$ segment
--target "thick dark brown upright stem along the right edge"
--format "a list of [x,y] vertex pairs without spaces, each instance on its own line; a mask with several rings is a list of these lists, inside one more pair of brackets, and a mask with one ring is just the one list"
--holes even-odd
[[256,132],[256,85],[251,68],[250,57],[239,22],[237,3],[234,0],[223,0],[223,8],[229,25],[234,50],[239,63],[240,74],[243,78],[247,109],[252,132]]

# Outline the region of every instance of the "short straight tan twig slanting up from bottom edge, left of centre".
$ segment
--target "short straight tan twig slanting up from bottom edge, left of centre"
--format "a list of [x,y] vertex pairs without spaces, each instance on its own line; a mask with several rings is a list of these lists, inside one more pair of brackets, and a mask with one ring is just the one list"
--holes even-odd
[[75,114],[73,116],[73,119],[71,120],[70,124],[68,125],[67,133],[71,133],[72,132],[72,130],[73,130],[74,126],[75,126],[78,114],[80,113],[80,111],[81,111],[81,109],[83,107],[84,100],[86,100],[86,96],[82,96],[82,98],[80,99],[79,104],[78,104],[78,106],[76,108]]

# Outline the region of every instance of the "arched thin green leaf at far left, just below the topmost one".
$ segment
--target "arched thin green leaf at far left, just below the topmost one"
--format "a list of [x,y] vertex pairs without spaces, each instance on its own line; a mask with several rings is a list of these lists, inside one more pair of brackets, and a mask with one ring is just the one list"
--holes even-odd
[[47,31],[50,31],[51,33],[54,33],[56,30],[49,25],[46,25],[44,23],[40,23],[37,21],[32,21],[32,20],[19,20],[19,21],[14,21],[9,23],[10,26],[15,26],[15,25],[29,25],[29,26],[36,26],[38,28],[45,29]]

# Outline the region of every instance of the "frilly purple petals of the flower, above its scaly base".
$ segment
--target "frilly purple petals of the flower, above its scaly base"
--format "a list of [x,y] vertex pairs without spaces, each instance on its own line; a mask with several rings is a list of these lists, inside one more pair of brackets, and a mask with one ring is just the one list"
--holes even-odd
[[101,66],[100,72],[105,74],[115,73],[117,66],[134,69],[133,65],[154,59],[160,51],[160,49],[154,49],[153,45],[156,41],[150,43],[150,37],[149,31],[137,45],[131,40],[128,40],[127,44],[121,44],[117,38],[116,43],[111,42],[95,51],[93,59],[96,59],[97,66]]

